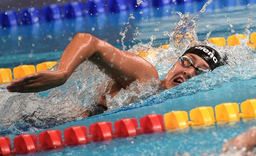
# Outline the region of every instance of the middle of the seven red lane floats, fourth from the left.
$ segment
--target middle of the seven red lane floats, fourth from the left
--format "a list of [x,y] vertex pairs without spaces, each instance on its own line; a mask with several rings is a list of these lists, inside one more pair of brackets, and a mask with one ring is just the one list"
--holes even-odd
[[87,144],[86,126],[73,126],[64,130],[64,140],[67,145]]

